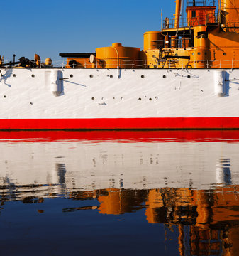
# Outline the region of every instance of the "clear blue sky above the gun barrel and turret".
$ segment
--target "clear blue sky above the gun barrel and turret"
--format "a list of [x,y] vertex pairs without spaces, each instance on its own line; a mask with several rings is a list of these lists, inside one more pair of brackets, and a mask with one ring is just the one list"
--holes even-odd
[[161,9],[173,18],[174,0],[1,1],[0,55],[61,60],[59,53],[94,52],[114,42],[143,48],[143,33],[160,31]]

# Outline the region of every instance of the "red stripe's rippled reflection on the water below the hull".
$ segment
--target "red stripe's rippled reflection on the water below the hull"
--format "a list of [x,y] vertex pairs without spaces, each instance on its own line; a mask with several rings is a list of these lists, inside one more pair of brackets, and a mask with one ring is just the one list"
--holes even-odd
[[239,142],[239,130],[1,131],[0,142]]

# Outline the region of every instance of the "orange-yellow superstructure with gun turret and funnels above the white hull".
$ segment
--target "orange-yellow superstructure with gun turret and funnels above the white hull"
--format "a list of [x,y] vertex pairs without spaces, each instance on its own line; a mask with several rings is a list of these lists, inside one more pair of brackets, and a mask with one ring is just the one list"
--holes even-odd
[[187,20],[180,23],[182,4],[177,0],[174,19],[165,18],[162,31],[144,33],[143,50],[113,43],[96,48],[91,59],[67,58],[66,67],[239,68],[239,1],[214,3],[187,1]]

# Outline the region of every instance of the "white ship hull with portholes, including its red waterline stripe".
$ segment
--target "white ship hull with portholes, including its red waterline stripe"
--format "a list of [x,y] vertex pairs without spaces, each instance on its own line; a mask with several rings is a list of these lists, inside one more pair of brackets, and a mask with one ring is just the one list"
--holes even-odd
[[0,129],[239,128],[239,70],[8,68],[1,73]]

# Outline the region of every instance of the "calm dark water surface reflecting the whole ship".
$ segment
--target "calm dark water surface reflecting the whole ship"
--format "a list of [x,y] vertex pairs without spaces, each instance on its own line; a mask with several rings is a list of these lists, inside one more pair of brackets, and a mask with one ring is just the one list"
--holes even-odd
[[0,132],[3,255],[238,255],[239,131]]

